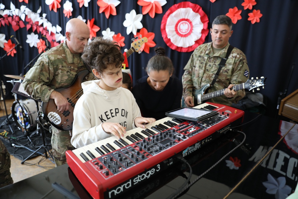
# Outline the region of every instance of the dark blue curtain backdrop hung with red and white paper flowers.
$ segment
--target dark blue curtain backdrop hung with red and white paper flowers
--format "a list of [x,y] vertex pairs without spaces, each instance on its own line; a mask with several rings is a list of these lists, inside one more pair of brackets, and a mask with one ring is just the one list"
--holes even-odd
[[[5,5],[5,9],[10,9],[10,1],[1,0]],[[41,6],[41,13],[46,13],[46,19],[50,21],[54,26],[57,24],[62,27],[61,33],[65,34],[65,25],[69,18],[63,14],[63,4],[66,0],[62,0],[61,8],[55,13],[53,10],[49,10],[49,6],[45,4],[45,1],[33,1],[29,0],[29,3],[19,2],[18,0],[11,1],[16,8],[20,9],[21,5],[26,5],[33,12],[37,12]],[[79,15],[84,19],[95,18],[94,24],[100,27],[97,32],[97,36],[102,36],[102,31],[108,27],[116,34],[121,33],[125,36],[125,47],[122,47],[122,51],[125,48],[130,48],[131,38],[126,34],[126,27],[123,26],[125,20],[125,14],[129,13],[132,9],[136,10],[136,14],[142,14],[142,7],[137,4],[137,0],[126,0],[116,7],[117,16],[110,15],[109,19],[105,17],[104,13],[99,13],[99,6],[97,1],[92,0],[89,2],[89,7],[79,7],[77,0],[70,0],[72,2],[72,17]],[[142,18],[143,27],[148,32],[155,33],[153,41],[156,43],[156,47],[162,46],[166,49],[167,55],[172,59],[174,67],[176,69],[176,76],[181,78],[183,74],[183,68],[187,63],[192,52],[181,53],[170,49],[164,42],[160,31],[161,21],[167,10],[173,6],[173,4],[180,3],[182,1],[168,0],[167,4],[162,7],[162,14],[155,14],[154,18],[151,18],[148,14]],[[265,89],[261,89],[263,95],[268,98],[268,115],[274,116],[277,113],[277,100],[279,92],[285,92],[286,95],[294,92],[298,89],[298,1],[297,0],[256,0],[257,4],[253,6],[253,10],[260,10],[263,16],[260,18],[259,23],[252,24],[247,20],[248,13],[252,10],[244,10],[241,5],[244,0],[217,0],[214,3],[209,0],[190,0],[191,3],[198,4],[202,7],[203,11],[209,18],[208,28],[211,27],[213,19],[218,15],[223,15],[229,12],[229,8],[237,7],[242,10],[242,19],[238,20],[236,24],[233,24],[234,33],[229,42],[233,46],[241,49],[247,57],[250,77],[267,77]],[[0,16],[1,18],[2,16]],[[25,25],[27,22],[24,22]],[[14,57],[6,56],[0,60],[1,79],[7,86],[7,90],[11,90],[12,85],[6,81],[10,81],[11,78],[4,77],[4,74],[20,75],[26,74],[29,67],[24,70],[24,67],[38,55],[36,47],[30,47],[26,43],[27,34],[30,34],[32,29],[27,31],[26,28],[21,28],[16,32],[12,29],[12,26],[0,27],[0,33],[5,34],[6,40],[11,35],[20,41],[24,48],[21,51],[17,48],[17,53]],[[137,30],[139,32],[139,30]],[[34,32],[37,34],[36,32]],[[40,34],[39,34],[40,35]],[[41,38],[41,35],[40,37]],[[205,42],[211,41],[210,33],[206,37]],[[12,42],[15,41],[12,39]],[[0,55],[3,56],[6,52],[0,48]],[[141,54],[133,53],[128,57],[128,64],[133,74],[134,82],[145,75],[144,68],[148,60],[154,55],[154,47],[150,48],[150,53],[142,52]],[[34,62],[33,62],[34,63]],[[297,63],[297,64],[295,64]],[[294,64],[294,70],[290,78],[291,69]],[[7,98],[11,97],[11,93],[8,92]]]

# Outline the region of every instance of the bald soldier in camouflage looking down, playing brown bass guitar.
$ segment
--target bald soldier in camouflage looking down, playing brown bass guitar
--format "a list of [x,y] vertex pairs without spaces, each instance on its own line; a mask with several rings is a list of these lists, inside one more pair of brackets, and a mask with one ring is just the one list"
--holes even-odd
[[[66,24],[66,42],[41,54],[34,66],[27,72],[23,81],[26,92],[34,99],[48,102],[53,99],[57,110],[64,112],[71,107],[66,97],[55,91],[72,84],[76,75],[89,70],[83,81],[89,81],[94,75],[81,59],[88,42],[90,30],[82,20],[73,18]],[[52,155],[56,166],[66,163],[66,150],[73,150],[70,143],[72,131],[60,131],[52,126]]]

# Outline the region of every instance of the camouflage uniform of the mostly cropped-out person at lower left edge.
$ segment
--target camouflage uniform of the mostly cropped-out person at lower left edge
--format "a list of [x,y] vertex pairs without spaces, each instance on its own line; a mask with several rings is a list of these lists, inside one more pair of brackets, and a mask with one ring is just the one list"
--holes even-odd
[[13,178],[10,175],[10,154],[0,140],[0,188],[12,184]]

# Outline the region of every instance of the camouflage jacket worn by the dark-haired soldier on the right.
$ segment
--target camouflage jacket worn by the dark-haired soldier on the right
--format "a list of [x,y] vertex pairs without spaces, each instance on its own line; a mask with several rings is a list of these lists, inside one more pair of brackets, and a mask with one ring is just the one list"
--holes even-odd
[[[184,74],[182,75],[183,84],[183,97],[193,96],[192,90],[200,89],[205,84],[211,84],[215,73],[218,70],[218,64],[221,58],[226,57],[226,52],[230,44],[226,45],[223,50],[213,53],[212,42],[207,44],[201,44],[198,46],[193,54],[190,56],[189,61],[184,67]],[[246,56],[244,53],[235,48],[232,50],[226,64],[221,68],[221,72],[213,85],[210,87],[208,92],[214,92],[217,90],[224,89],[229,84],[242,84],[249,78],[249,68],[247,65]],[[241,98],[245,96],[244,90],[238,90],[237,95],[233,98],[226,98],[225,95],[211,98],[208,101],[226,104],[231,106],[232,103],[237,103]]]

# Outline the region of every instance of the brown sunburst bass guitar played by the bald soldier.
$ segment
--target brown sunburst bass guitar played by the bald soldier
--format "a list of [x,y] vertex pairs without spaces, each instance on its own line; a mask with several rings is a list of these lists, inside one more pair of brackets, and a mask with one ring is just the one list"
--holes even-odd
[[[128,57],[134,52],[140,53],[141,46],[148,41],[147,37],[140,38],[134,41],[131,44],[131,48],[126,52],[126,56]],[[75,104],[80,96],[83,95],[83,89],[81,83],[83,82],[84,77],[89,73],[88,70],[83,70],[77,74],[75,80],[72,84],[65,88],[56,89],[56,91],[60,92],[64,97],[67,98],[68,102],[71,104],[69,110],[61,113],[57,110],[57,106],[53,99],[50,99],[49,102],[42,102],[41,107],[44,113],[45,118],[52,124],[54,127],[61,131],[69,131],[72,130],[72,124],[74,121],[73,110],[75,108]]]

